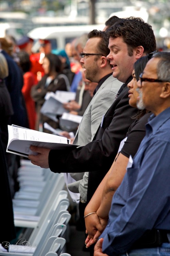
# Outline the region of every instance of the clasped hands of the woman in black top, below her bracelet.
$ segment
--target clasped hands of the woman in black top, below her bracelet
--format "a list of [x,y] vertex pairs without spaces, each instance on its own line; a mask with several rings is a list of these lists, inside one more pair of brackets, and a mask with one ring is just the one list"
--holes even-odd
[[85,244],[88,248],[90,245],[96,243],[97,239],[102,234],[107,225],[108,218],[101,218],[95,214],[88,215],[85,218],[86,234],[88,234]]

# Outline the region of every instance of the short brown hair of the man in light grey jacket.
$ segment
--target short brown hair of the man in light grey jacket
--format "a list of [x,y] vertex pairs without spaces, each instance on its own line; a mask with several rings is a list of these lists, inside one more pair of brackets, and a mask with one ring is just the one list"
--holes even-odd
[[109,54],[107,37],[105,31],[94,29],[88,33],[88,38],[100,38],[101,40],[97,44],[97,53],[107,56]]

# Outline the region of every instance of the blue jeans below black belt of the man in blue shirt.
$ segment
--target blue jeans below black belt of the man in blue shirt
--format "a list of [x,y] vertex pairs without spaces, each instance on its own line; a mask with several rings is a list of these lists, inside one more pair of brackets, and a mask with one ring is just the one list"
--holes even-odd
[[156,248],[134,249],[119,256],[170,256],[170,243],[163,243]]

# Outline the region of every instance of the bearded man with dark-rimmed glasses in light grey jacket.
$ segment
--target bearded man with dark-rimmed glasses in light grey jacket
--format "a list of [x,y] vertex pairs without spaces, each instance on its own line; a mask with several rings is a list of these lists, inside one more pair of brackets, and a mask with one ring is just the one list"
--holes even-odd
[[[112,105],[121,82],[112,76],[112,67],[106,59],[109,53],[105,32],[92,30],[81,53],[81,64],[84,68],[86,79],[98,83],[94,96],[88,105],[73,144],[84,146],[92,141],[102,121],[103,114]],[[87,169],[88,171],[88,169]],[[69,184],[72,192],[80,193],[79,212],[84,223],[84,209],[87,201],[88,173],[72,173],[77,182]],[[80,176],[81,175],[81,176]],[[79,181],[78,181],[79,180]]]

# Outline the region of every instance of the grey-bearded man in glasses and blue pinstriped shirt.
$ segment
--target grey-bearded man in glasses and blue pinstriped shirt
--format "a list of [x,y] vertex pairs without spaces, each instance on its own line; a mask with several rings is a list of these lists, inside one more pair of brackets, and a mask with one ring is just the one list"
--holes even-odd
[[138,108],[153,114],[114,194],[94,256],[170,255],[170,53],[158,52],[138,81]]

